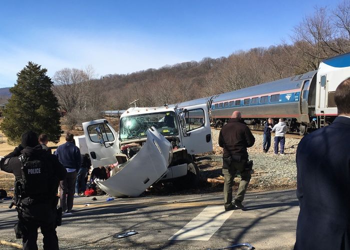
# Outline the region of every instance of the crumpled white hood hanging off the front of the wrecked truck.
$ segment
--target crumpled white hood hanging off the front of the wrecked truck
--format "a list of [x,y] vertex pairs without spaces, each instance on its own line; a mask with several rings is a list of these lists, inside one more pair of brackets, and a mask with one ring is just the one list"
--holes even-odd
[[167,172],[171,156],[170,142],[154,127],[149,128],[138,153],[113,176],[96,180],[96,184],[112,196],[138,196]]

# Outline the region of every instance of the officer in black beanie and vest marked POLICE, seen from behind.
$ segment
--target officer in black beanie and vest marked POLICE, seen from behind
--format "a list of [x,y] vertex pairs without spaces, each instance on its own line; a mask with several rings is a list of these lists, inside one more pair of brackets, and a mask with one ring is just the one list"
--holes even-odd
[[61,211],[56,208],[56,192],[59,180],[66,175],[65,168],[55,155],[42,149],[36,133],[28,131],[22,134],[21,144],[0,160],[0,169],[15,177],[13,202],[18,212],[15,232],[17,238],[22,237],[23,249],[37,249],[38,227],[43,235],[43,248],[58,249],[55,228]]

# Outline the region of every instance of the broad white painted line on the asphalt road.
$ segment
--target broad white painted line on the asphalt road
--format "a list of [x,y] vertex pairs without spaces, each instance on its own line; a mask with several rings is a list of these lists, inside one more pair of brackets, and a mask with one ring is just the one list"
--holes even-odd
[[208,205],[169,240],[208,240],[232,212],[225,211],[223,205]]

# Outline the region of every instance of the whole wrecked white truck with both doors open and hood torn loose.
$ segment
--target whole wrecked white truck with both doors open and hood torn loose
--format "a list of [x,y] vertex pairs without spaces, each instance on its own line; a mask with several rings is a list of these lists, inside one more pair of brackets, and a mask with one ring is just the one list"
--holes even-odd
[[157,181],[194,187],[200,172],[192,155],[212,151],[206,105],[176,108],[132,107],[116,133],[106,119],[82,123],[93,167],[118,162],[97,185],[113,196],[138,196]]

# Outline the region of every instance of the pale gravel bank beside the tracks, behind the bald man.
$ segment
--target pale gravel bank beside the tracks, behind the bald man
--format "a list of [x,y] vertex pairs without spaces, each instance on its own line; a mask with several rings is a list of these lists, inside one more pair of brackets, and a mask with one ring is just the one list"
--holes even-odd
[[[198,163],[203,178],[222,175],[222,148],[218,145],[219,129],[212,129],[213,152]],[[300,139],[285,138],[284,155],[273,152],[274,135],[267,153],[262,152],[262,134],[254,133],[255,143],[248,148],[249,159],[253,160],[253,174],[249,183],[250,188],[274,189],[296,187],[295,153]],[[216,170],[215,170],[216,169]],[[216,175],[216,176],[215,176]],[[219,177],[220,178],[220,177]]]

